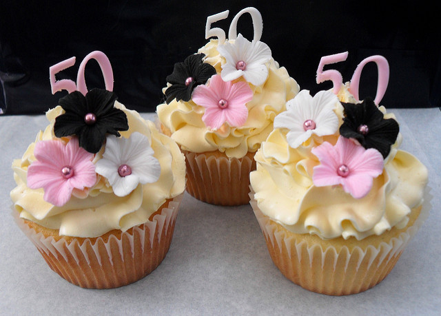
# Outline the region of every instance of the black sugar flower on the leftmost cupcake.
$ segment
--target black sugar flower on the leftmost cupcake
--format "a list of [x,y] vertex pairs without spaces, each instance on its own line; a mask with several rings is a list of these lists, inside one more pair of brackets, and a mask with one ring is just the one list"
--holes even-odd
[[59,100],[65,114],[57,116],[55,136],[61,138],[76,135],[79,146],[96,154],[105,140],[105,134],[120,136],[127,131],[127,116],[116,109],[116,95],[103,89],[92,89],[85,96],[74,91]]

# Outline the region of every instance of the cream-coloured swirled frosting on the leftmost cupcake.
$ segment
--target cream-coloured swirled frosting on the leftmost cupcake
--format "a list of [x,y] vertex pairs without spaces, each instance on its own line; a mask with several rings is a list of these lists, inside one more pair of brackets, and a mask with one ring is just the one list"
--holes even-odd
[[[115,102],[114,107],[121,109],[127,116],[129,129],[121,131],[121,136],[128,138],[138,131],[147,137],[154,150],[154,157],[161,165],[161,176],[156,182],[138,185],[132,193],[124,197],[116,196],[107,179],[99,176],[96,184],[83,191],[74,189],[72,198],[62,207],[56,207],[43,200],[43,189],[30,189],[26,185],[28,166],[35,160],[35,143],[51,140],[54,136],[55,118],[63,114],[60,106],[46,114],[50,121],[44,131],[37,134],[21,159],[14,160],[12,169],[17,187],[10,195],[14,208],[20,217],[43,227],[59,229],[60,235],[92,238],[107,233],[112,229],[126,231],[131,227],[147,222],[150,215],[170,198],[181,194],[185,189],[185,160],[174,141],[161,134],[154,123],[146,121],[124,105]],[[104,146],[93,162],[101,159]]]

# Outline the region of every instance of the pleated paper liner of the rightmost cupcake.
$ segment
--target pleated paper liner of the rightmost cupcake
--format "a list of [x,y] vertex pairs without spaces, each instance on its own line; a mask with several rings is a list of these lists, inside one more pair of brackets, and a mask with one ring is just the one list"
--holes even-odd
[[402,251],[429,216],[429,190],[420,215],[406,231],[378,246],[349,250],[342,246],[308,245],[301,234],[289,233],[280,224],[264,215],[250,193],[250,204],[267,242],[271,259],[289,280],[309,291],[327,295],[360,293],[380,283],[392,270]]

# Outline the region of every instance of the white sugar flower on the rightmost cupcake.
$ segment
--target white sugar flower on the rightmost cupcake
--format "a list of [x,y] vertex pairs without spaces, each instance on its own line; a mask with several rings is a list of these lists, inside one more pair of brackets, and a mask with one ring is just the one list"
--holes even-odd
[[320,91],[314,98],[308,90],[300,91],[287,102],[287,110],[274,118],[274,128],[289,129],[287,142],[297,148],[312,134],[332,135],[338,129],[338,116],[334,112],[338,98],[330,91]]

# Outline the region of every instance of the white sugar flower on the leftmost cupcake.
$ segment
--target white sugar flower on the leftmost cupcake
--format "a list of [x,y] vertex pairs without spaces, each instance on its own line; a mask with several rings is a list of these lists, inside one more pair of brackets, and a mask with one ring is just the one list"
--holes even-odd
[[95,165],[96,173],[109,180],[116,196],[127,196],[141,183],[156,182],[161,174],[149,140],[135,132],[130,138],[107,136],[103,158]]

